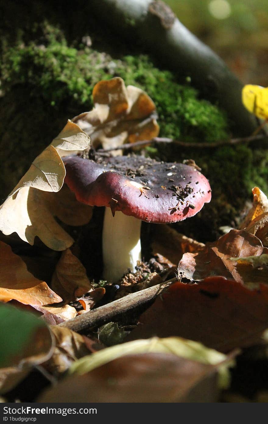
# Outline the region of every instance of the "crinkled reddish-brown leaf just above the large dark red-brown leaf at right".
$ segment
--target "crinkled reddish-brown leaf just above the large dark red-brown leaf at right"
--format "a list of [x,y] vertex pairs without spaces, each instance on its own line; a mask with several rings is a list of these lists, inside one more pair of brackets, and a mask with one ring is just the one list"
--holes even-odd
[[268,248],[253,234],[231,230],[215,243],[207,243],[203,250],[185,253],[178,266],[179,278],[201,281],[208,276],[224,276],[240,283],[267,283],[268,269],[254,269],[230,258],[268,254]]

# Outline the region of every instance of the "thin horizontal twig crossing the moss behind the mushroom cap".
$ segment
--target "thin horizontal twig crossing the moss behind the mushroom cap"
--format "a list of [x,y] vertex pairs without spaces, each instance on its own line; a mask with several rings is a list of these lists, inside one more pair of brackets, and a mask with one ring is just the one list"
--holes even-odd
[[152,143],[174,143],[177,144],[179,146],[182,147],[187,147],[187,148],[215,148],[218,146],[223,146],[223,145],[235,145],[235,144],[240,144],[240,143],[249,143],[251,141],[254,140],[261,140],[264,139],[265,134],[256,134],[256,135],[251,135],[249,137],[239,137],[239,138],[232,138],[229,140],[223,140],[223,141],[218,141],[215,143],[196,143],[196,142],[185,142],[185,141],[181,141],[181,140],[173,140],[172,138],[166,138],[166,137],[154,137],[151,140],[142,140],[142,141],[136,141],[133,143],[126,143],[120,146],[116,146],[116,147],[109,147],[108,149],[98,149],[98,153],[108,153],[111,152],[113,150],[128,150],[128,149],[132,149],[133,147],[141,147],[144,145],[148,145],[148,144],[152,144]]

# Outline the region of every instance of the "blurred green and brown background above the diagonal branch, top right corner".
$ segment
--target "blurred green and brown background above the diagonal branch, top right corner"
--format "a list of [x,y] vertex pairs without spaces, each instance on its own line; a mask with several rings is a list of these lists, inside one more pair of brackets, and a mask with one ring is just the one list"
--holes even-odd
[[244,84],[268,86],[267,0],[165,0]]

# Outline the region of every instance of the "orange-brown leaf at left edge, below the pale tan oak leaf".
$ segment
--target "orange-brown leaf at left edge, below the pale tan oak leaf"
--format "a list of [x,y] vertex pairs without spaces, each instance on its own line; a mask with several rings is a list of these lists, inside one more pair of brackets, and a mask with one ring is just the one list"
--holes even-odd
[[36,279],[23,260],[15,255],[11,247],[0,242],[0,301],[15,299],[23,304],[43,306],[61,302],[44,281]]

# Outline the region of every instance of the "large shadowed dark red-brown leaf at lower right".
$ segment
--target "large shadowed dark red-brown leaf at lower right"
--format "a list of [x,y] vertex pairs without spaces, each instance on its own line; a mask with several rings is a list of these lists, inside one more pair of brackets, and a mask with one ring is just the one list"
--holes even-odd
[[177,282],[139,321],[126,340],[179,336],[221,352],[253,346],[268,327],[268,287],[249,290],[224,277],[198,285]]

